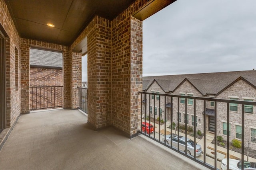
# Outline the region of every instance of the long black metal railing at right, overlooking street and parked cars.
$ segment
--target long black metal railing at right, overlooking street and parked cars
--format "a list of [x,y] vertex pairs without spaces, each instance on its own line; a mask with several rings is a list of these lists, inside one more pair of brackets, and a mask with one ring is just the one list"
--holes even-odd
[[[241,149],[239,150],[241,156],[238,159],[241,160],[242,169],[245,168],[244,155],[245,143],[247,142],[245,140],[245,137],[249,139],[249,141],[252,140],[250,127],[254,126],[245,124],[245,120],[246,122],[249,122],[250,120],[255,120],[253,116],[255,115],[254,106],[256,106],[256,102],[182,96],[173,94],[159,94],[150,92],[139,92],[139,94],[141,95],[141,128],[139,133],[149,137],[154,141],[157,141],[158,143],[161,143],[162,145],[165,145],[172,150],[175,150],[176,152],[179,152],[180,154],[183,154],[184,156],[210,169],[220,169],[220,165],[222,164],[222,162],[219,162],[217,167],[217,161],[221,161],[219,158],[217,159],[217,152],[219,151],[217,150],[217,136],[218,138],[224,138],[223,141],[226,140],[226,144],[224,143],[226,147],[226,152],[224,152],[224,154],[226,154],[227,162],[223,163],[222,166],[226,166],[227,169],[229,169],[230,162],[230,141],[231,139],[237,140],[238,138],[237,141],[239,141],[239,143],[241,144]],[[209,104],[210,102],[213,102],[214,106],[212,106],[213,103],[212,105]],[[252,108],[253,113],[244,113],[245,106],[246,109],[248,109],[248,107],[250,106],[249,108]],[[210,110],[208,108],[212,109]],[[181,113],[184,114],[184,121],[182,121],[181,119]],[[191,119],[189,119],[187,115],[191,115]],[[211,120],[214,119],[214,121],[210,122],[209,117],[211,116],[214,116],[214,118],[211,118]],[[207,119],[209,122],[206,121]],[[189,120],[192,122],[192,126],[190,126],[190,123],[188,123]],[[211,125],[211,123],[212,127],[210,128],[209,126]],[[226,123],[226,132],[224,132],[224,123]],[[146,127],[146,124],[148,126],[152,125],[154,128],[148,128]],[[209,126],[207,126],[207,124]],[[242,130],[239,132],[234,130],[234,126],[235,128],[237,128],[237,125],[242,128]],[[232,130],[228,130],[231,126]],[[208,146],[206,146],[206,139],[209,139],[209,137],[206,136],[206,133],[209,132],[207,130],[208,127],[208,130],[212,130],[212,133],[214,134],[214,138],[212,140],[212,143],[214,145],[214,148],[211,152],[212,156],[206,152],[206,149],[209,148]],[[228,135],[230,132],[232,132],[231,136]],[[234,132],[235,137],[233,136]],[[170,133],[170,135],[168,135],[167,133]],[[196,147],[194,147],[193,150],[189,148],[190,146],[188,145],[188,143],[191,143],[188,137],[189,133],[192,134],[190,135],[190,139],[192,139],[192,142],[195,141],[196,143],[199,141],[199,139],[196,137],[197,134],[202,133],[202,139],[200,139],[202,140],[202,153],[198,154],[201,151]],[[184,135],[185,137],[181,138],[182,135]],[[168,137],[170,137],[170,139],[168,139]],[[184,139],[184,145],[181,139]],[[194,143],[194,146],[197,145],[198,144]],[[256,144],[254,145],[254,147],[256,147]],[[207,160],[206,156],[208,156]]]

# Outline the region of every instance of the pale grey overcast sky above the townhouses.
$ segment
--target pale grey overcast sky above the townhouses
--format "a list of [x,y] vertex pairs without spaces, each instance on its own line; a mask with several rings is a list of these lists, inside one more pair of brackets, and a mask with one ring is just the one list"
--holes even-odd
[[177,0],[143,21],[143,76],[253,68],[256,0]]

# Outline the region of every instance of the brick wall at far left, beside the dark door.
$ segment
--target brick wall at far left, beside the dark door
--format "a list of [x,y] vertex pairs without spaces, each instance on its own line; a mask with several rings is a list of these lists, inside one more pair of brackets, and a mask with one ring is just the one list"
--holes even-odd
[[0,0],[0,29],[6,35],[6,127],[10,127],[20,115],[20,65],[16,63],[20,61],[20,45],[18,32],[4,0]]

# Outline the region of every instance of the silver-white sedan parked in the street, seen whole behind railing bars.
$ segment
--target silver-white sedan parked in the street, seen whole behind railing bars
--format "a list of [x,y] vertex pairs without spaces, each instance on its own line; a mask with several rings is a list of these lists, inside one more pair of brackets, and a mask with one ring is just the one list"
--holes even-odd
[[[164,137],[162,138],[163,142],[166,142],[167,145],[171,144],[171,135],[166,135],[166,139]],[[178,141],[180,143],[180,150],[187,152],[187,154],[190,154],[194,156],[194,141],[191,139],[187,138],[187,150],[185,150],[185,141],[186,138],[183,136],[177,136],[177,135],[172,135],[172,146],[178,148]],[[200,156],[202,154],[202,148],[201,145],[196,143],[196,156]]]

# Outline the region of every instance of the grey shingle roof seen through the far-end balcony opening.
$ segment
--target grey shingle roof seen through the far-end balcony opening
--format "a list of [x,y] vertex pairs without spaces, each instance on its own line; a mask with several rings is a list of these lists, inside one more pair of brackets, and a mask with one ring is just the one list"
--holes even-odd
[[62,53],[30,49],[30,65],[62,68]]

